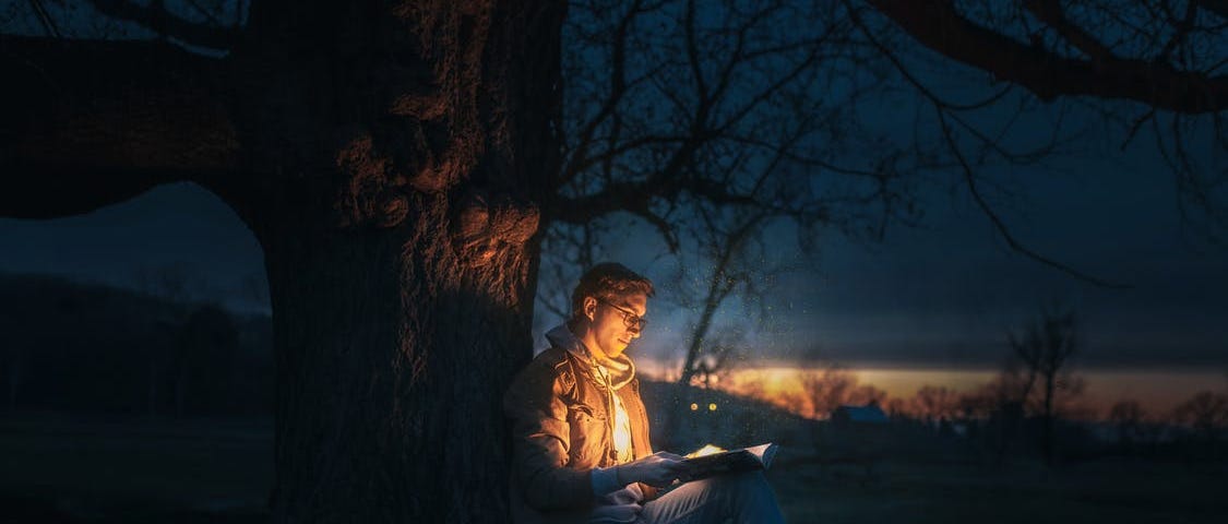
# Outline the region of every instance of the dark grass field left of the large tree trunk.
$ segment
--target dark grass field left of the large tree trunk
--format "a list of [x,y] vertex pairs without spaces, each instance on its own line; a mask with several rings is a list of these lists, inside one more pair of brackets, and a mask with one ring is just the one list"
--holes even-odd
[[2,522],[184,522],[264,512],[269,421],[0,421]]

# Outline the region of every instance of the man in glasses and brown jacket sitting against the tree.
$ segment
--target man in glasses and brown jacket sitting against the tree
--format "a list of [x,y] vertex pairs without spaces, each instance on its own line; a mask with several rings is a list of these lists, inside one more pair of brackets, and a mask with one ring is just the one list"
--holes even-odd
[[652,453],[625,353],[651,296],[652,282],[620,264],[589,269],[571,319],[507,390],[517,523],[783,522],[763,472],[684,482],[682,457]]

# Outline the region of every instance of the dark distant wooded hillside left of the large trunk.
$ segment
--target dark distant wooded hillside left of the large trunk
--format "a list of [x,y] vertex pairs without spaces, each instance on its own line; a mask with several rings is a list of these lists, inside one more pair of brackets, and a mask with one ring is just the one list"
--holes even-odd
[[9,412],[271,414],[264,315],[52,276],[0,275],[0,334]]

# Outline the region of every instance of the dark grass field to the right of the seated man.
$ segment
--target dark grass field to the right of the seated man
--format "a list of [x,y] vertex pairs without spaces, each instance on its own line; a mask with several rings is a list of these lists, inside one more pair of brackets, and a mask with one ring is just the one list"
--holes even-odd
[[790,468],[769,477],[793,523],[1221,523],[1223,471],[1104,461],[1045,469],[884,463]]

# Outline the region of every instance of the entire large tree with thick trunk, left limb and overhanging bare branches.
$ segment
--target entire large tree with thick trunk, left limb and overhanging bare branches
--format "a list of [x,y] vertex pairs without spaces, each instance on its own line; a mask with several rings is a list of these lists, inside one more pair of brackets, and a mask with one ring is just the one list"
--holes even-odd
[[[1120,47],[1087,38],[1121,34],[1113,9],[1079,11],[1103,22],[1088,26],[1057,1],[1008,16],[938,0],[578,2],[576,43],[609,45],[569,44],[597,71],[573,77],[561,0],[260,0],[232,23],[200,1],[87,4],[154,38],[56,38],[80,21],[26,4],[44,36],[0,39],[0,215],[81,214],[177,180],[236,210],[274,310],[278,522],[505,520],[499,399],[530,355],[550,223],[630,211],[675,244],[688,211],[713,205],[803,233],[876,229],[911,214],[901,175],[954,168],[1032,253],[974,172],[1027,156],[968,112],[1074,96],[1176,126],[1228,104],[1202,44],[1222,25],[1210,0],[1129,13],[1162,29]],[[912,74],[912,42],[1024,90],[957,103]],[[867,82],[884,79],[930,101],[922,134],[943,147],[855,148],[856,126],[829,125],[865,117]],[[564,81],[587,109],[564,109]],[[1174,171],[1207,194],[1187,160]]]

